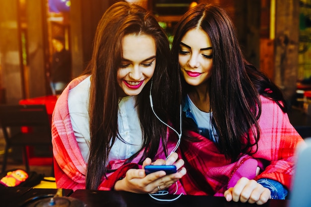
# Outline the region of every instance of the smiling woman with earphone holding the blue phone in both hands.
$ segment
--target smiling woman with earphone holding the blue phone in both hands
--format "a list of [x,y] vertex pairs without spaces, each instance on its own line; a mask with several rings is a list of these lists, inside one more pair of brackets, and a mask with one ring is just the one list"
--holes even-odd
[[58,188],[155,193],[186,173],[176,153],[166,160],[176,165],[174,174],[146,175],[137,169],[163,163],[168,154],[168,130],[152,111],[151,92],[158,117],[173,126],[179,122],[169,55],[166,34],[144,8],[127,2],[108,8],[87,69],[64,90],[54,110]]

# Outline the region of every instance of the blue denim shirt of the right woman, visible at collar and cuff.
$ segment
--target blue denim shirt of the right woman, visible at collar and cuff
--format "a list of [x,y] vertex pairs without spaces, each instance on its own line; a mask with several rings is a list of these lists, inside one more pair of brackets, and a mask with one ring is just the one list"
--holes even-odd
[[[183,117],[192,119],[193,124],[197,126],[196,120],[193,114],[191,113],[187,98],[183,100],[182,111],[184,114]],[[212,124],[212,127],[210,129],[198,129],[197,133],[216,142],[218,140],[217,131],[218,130],[215,129]],[[268,188],[270,190],[272,199],[284,200],[286,199],[286,196],[288,195],[288,190],[278,181],[262,178],[262,179],[257,180],[257,183],[261,184],[263,187]]]

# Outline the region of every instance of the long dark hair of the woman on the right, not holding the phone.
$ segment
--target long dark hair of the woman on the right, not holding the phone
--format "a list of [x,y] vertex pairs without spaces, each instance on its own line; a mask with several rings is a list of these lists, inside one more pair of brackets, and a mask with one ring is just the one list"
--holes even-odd
[[[221,152],[235,160],[241,153],[253,151],[253,146],[254,151],[257,150],[260,95],[275,100],[284,112],[286,103],[280,89],[264,73],[245,61],[231,18],[225,9],[215,4],[198,4],[184,14],[176,25],[172,43],[175,70],[179,70],[180,41],[187,31],[194,28],[205,31],[212,41],[213,68],[207,87],[213,123],[218,130],[217,144]],[[192,87],[181,79],[185,97]],[[187,123],[183,124],[183,129],[190,129]],[[251,134],[254,140],[251,140]]]

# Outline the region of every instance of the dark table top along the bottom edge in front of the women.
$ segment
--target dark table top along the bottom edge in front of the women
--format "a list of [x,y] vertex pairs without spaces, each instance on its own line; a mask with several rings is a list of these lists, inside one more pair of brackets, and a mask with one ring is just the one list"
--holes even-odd
[[[28,207],[43,206],[36,205],[38,202],[53,197],[57,189],[33,189],[23,187],[0,188],[1,206],[3,207]],[[63,207],[256,207],[256,204],[242,204],[227,202],[223,197],[213,196],[181,196],[176,201],[156,201],[148,194],[134,194],[116,191],[94,191],[94,190],[64,190],[60,200],[66,200]],[[160,199],[173,199],[176,195],[157,197]],[[58,201],[57,201],[58,202]],[[75,203],[76,202],[76,203]],[[78,204],[78,205],[77,205]],[[269,200],[260,207],[287,207],[287,200]],[[46,205],[48,206],[48,205]],[[56,206],[57,207],[57,206]],[[259,207],[259,206],[258,206]]]

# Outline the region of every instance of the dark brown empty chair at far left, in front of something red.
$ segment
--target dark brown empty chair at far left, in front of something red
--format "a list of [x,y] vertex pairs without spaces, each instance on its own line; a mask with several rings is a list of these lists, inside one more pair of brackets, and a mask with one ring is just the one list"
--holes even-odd
[[[27,171],[29,165],[34,165],[29,162],[28,146],[46,146],[52,150],[51,124],[43,104],[0,105],[0,125],[5,139],[2,172],[6,168],[8,149],[12,146],[22,147]],[[22,132],[23,127],[27,127],[27,132]],[[50,154],[51,158],[46,164],[53,168],[52,155],[53,153]]]

